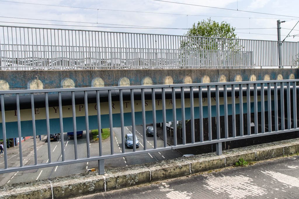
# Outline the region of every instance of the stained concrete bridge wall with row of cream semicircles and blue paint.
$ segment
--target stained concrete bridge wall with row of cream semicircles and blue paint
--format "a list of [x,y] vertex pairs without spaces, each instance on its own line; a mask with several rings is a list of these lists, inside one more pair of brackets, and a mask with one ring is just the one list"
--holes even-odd
[[0,90],[298,79],[298,69],[0,71]]

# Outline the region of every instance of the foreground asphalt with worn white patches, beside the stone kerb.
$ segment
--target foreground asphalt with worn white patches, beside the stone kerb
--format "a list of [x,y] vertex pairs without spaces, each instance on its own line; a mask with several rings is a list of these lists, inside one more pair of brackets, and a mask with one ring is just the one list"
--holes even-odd
[[299,156],[196,174],[76,199],[299,198]]

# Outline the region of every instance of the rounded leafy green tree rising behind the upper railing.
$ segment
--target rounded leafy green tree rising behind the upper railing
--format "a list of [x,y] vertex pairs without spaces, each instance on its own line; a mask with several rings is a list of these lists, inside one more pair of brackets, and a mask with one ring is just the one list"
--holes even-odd
[[211,19],[193,24],[180,42],[182,65],[231,65],[242,59],[241,45],[234,40],[235,28]]

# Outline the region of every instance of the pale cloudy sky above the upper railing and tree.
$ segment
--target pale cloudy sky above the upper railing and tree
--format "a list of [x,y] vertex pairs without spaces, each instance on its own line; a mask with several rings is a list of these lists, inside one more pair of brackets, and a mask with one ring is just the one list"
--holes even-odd
[[[177,3],[155,0],[0,1],[0,25],[183,35],[194,23],[197,23],[203,19],[211,18],[219,23],[224,21],[231,24],[232,27],[236,28],[235,33],[237,34],[238,38],[254,40],[277,40],[277,20],[279,19],[281,21],[286,21],[281,23],[281,40],[286,38],[286,41],[299,41],[299,23],[296,25],[296,23],[299,21],[299,13],[297,11],[299,7],[298,0],[165,1]],[[33,4],[23,4],[16,2]],[[211,7],[226,8],[230,10]],[[259,13],[243,12],[240,10]],[[138,26],[158,28],[145,28]],[[292,28],[294,28],[293,31],[291,31]],[[289,33],[290,31],[291,33]],[[288,34],[291,37],[286,37]],[[293,37],[293,35],[296,34],[298,34],[298,36]]]

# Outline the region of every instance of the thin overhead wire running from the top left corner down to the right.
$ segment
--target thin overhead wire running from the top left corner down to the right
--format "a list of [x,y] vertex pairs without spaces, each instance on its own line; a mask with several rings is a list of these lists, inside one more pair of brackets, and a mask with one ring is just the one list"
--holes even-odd
[[[51,4],[38,4],[38,3],[27,3],[18,1],[3,1],[9,3],[19,3],[19,4],[32,4],[32,5],[44,5],[44,6],[55,6],[55,7],[69,7],[69,8],[79,8],[79,9],[90,9],[90,10],[106,10],[106,11],[119,11],[119,12],[132,12],[132,13],[149,13],[149,14],[166,14],[166,15],[181,15],[181,16],[207,16],[207,17],[227,17],[227,18],[243,18],[243,19],[277,19],[277,18],[265,18],[265,17],[241,17],[241,16],[214,16],[214,15],[195,15],[195,14],[179,14],[179,13],[161,13],[161,12],[144,12],[135,10],[115,10],[115,9],[103,9],[103,8],[90,8],[90,7],[75,7],[75,6],[63,6],[63,5],[51,5]],[[290,19],[290,18],[283,18]],[[290,19],[293,20],[293,19]]]

